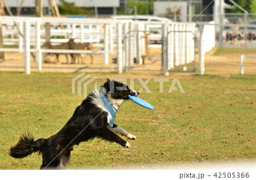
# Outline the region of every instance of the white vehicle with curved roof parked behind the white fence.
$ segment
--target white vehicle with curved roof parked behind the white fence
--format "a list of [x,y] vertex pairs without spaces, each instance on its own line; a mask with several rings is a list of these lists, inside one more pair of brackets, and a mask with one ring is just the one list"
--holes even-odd
[[[149,31],[148,40],[150,44],[161,44],[162,43],[162,26],[157,23],[172,23],[171,19],[160,18],[152,15],[117,15],[111,16],[112,19],[116,20],[134,20],[148,23],[147,29]],[[155,24],[154,24],[155,23]]]

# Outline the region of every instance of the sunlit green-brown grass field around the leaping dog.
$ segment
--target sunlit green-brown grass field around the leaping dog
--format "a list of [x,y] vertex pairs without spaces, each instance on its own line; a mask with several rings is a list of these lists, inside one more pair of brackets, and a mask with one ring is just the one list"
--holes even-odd
[[[90,74],[98,77],[98,85],[105,78],[131,77],[135,78],[135,89],[141,87],[136,80],[142,77],[139,72]],[[71,93],[71,80],[76,75],[0,72],[0,169],[39,169],[42,156],[38,153],[19,160],[8,155],[9,148],[24,132],[47,138],[65,125],[82,101],[82,97]],[[154,73],[150,76],[166,78]],[[154,105],[155,112],[205,161],[255,160],[255,75],[171,74],[168,78],[179,78],[185,93],[167,93],[171,82],[164,83],[164,93],[159,93],[159,84],[151,80],[148,87],[152,93],[143,91],[140,97]],[[72,151],[67,169],[204,165],[156,113],[126,102],[118,110],[116,122],[137,136],[136,140],[129,140],[131,148],[98,139],[83,142]]]

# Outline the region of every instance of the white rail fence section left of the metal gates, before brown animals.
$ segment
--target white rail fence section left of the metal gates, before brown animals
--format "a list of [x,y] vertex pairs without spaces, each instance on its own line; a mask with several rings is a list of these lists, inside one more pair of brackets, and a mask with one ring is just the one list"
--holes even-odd
[[[10,17],[10,16],[1,16],[0,20],[5,27],[5,24],[10,24],[10,22],[16,22],[19,24],[20,31],[23,33],[23,37],[19,35],[18,31],[12,31],[12,36],[18,36],[17,41],[19,48],[18,49],[0,49],[0,52],[23,52],[24,58],[24,67],[25,72],[30,74],[30,53],[36,53],[36,62],[39,63],[39,71],[42,70],[42,53],[93,53],[92,50],[60,50],[60,49],[41,49],[41,45],[44,42],[49,41],[52,32],[55,35],[56,30],[52,29],[53,25],[64,24],[68,29],[57,29],[57,31],[61,31],[59,36],[64,35],[68,36],[68,38],[78,38],[81,42],[99,42],[100,35],[105,35],[104,39],[109,39],[109,33],[100,33],[105,31],[105,26],[109,25],[113,27],[114,25],[121,24],[121,22],[117,20],[110,19],[61,19],[61,18],[25,18],[25,17]],[[10,26],[10,25],[9,25]],[[42,26],[44,27],[42,29]],[[80,27],[77,30],[77,26]],[[71,28],[73,27],[73,28]],[[87,29],[84,27],[88,27]],[[95,28],[95,29],[93,29]],[[97,30],[97,31],[96,31]],[[9,31],[9,30],[6,30]],[[113,28],[109,31],[113,31]],[[68,33],[67,33],[68,32]],[[72,33],[72,35],[70,35]],[[6,32],[4,33],[6,34]],[[88,36],[86,38],[86,36]],[[95,36],[97,35],[97,36]],[[41,38],[43,37],[43,39]],[[110,36],[111,37],[111,36]],[[58,39],[54,38],[52,42],[67,42],[68,38]],[[119,41],[116,43],[122,46],[122,37],[118,38]],[[106,42],[106,41],[105,41]],[[111,42],[111,43],[110,43]],[[101,54],[109,54],[109,53],[117,53],[122,54],[122,52],[109,52],[106,51],[108,49],[113,49],[113,37],[112,40],[109,41],[108,44],[105,43],[105,50],[100,50],[95,53]],[[33,44],[32,44],[33,43]],[[5,45],[5,41],[4,41]],[[30,46],[34,45],[35,48],[31,49]],[[120,46],[119,45],[119,46]],[[108,58],[108,55],[105,55]],[[121,61],[122,57],[119,56],[119,61]],[[108,65],[108,59],[105,59],[104,63]],[[119,68],[121,69],[121,68]]]

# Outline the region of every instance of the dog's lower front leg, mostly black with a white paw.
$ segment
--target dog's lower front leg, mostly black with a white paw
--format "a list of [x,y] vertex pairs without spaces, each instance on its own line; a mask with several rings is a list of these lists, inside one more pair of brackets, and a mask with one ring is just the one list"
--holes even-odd
[[108,140],[109,142],[118,143],[118,144],[122,145],[125,148],[130,148],[131,147],[131,145],[128,142],[126,142],[125,140],[120,138],[114,132],[110,131],[109,128],[106,127],[106,126],[104,126],[102,128],[97,128],[96,132],[97,132],[97,136],[99,138]]

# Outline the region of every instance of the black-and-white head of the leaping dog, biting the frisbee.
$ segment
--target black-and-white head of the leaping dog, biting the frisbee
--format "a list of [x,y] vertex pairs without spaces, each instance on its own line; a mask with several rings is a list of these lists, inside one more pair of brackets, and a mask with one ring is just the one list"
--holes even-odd
[[126,84],[110,79],[107,79],[107,81],[102,85],[102,88],[105,89],[106,95],[114,100],[129,100],[128,95],[139,95],[139,92],[130,89]]

